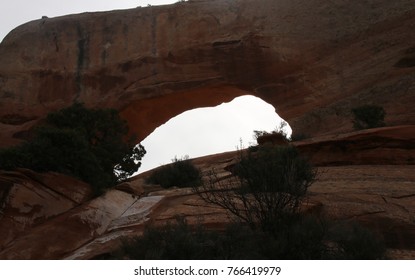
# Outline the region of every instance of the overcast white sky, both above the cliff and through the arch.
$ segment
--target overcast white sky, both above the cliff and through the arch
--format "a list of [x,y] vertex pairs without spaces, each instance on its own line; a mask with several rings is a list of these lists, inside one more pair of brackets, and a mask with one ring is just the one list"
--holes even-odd
[[[172,4],[178,0],[1,0],[0,40],[12,29],[42,16],[130,9],[137,6]],[[139,172],[170,163],[175,156],[197,157],[235,150],[242,139],[248,146],[253,130],[271,131],[280,119],[274,107],[248,96],[215,108],[185,112],[147,137],[147,150]]]

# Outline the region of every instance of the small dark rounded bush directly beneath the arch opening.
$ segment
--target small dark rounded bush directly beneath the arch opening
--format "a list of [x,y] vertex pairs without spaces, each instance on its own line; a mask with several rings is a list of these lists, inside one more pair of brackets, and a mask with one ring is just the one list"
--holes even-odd
[[147,179],[147,183],[163,188],[194,187],[202,182],[200,170],[187,157],[173,159],[171,164],[156,169]]

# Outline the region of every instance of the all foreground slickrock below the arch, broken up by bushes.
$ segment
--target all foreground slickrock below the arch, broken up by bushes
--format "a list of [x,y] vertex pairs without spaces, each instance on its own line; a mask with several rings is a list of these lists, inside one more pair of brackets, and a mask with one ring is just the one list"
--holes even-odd
[[[363,223],[384,239],[391,258],[415,258],[415,173],[413,165],[405,163],[415,150],[413,130],[414,126],[372,129],[332,136],[330,141],[295,143],[319,165],[307,211]],[[390,145],[376,150],[373,139]],[[348,149],[338,149],[333,163],[328,155],[335,141],[347,143]],[[402,149],[409,156],[404,157]],[[359,157],[370,150],[376,152]],[[397,156],[388,162],[393,151]],[[214,168],[219,179],[226,179],[237,157],[238,152],[228,152],[193,162],[203,174]],[[371,165],[362,165],[364,159]],[[122,238],[141,235],[148,224],[164,224],[177,215],[215,229],[229,222],[222,209],[201,201],[190,189],[146,185],[150,173],[90,199],[87,185],[64,175],[1,172],[0,259],[95,258],[116,249]]]

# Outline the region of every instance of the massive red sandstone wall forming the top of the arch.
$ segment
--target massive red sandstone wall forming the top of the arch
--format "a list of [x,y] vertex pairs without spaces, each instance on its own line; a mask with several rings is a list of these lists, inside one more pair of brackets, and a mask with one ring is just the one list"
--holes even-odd
[[0,145],[75,100],[140,139],[248,93],[307,135],[349,130],[362,103],[413,124],[414,17],[412,0],[210,0],[29,22],[0,45]]

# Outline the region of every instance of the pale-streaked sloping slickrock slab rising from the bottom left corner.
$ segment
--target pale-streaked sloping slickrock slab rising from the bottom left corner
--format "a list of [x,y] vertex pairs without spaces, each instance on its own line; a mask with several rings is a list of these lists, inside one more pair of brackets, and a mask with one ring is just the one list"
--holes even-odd
[[27,231],[0,252],[0,259],[61,259],[76,250],[82,252],[85,249],[79,248],[96,239],[107,240],[104,235],[118,229],[117,225],[122,229],[128,222],[144,223],[162,197],[142,199],[143,203],[131,194],[110,190]]

